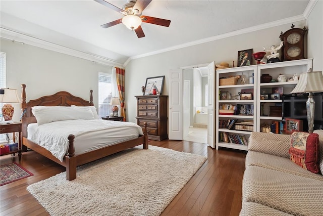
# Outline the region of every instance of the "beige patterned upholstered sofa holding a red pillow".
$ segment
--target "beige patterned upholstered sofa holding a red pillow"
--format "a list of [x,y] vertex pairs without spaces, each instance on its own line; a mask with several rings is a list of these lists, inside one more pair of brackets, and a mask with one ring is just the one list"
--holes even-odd
[[252,132],[242,183],[240,215],[323,215],[323,130],[319,174],[290,159],[290,135]]

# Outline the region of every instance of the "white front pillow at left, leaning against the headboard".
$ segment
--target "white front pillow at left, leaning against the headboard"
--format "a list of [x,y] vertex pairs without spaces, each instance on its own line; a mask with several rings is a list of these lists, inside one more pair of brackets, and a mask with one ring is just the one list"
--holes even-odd
[[32,107],[32,113],[36,117],[38,125],[50,123],[52,121],[94,119],[93,112],[90,108],[75,109],[73,107],[64,106],[37,106]]

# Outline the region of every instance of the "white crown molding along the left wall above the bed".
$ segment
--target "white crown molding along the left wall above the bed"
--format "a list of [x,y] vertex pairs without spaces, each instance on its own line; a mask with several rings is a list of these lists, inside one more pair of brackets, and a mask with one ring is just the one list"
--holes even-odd
[[123,67],[122,63],[113,61],[111,59],[104,58],[102,56],[97,56],[89,53],[85,53],[79,50],[71,49],[68,47],[64,47],[58,44],[53,44],[52,42],[42,40],[36,37],[32,37],[26,34],[22,34],[16,31],[12,31],[3,27],[0,27],[0,37],[12,41],[17,41],[22,44],[28,44],[35,47],[43,48],[50,51],[55,51],[58,53],[63,53],[66,55],[78,57],[81,59],[92,61],[93,63],[99,63],[102,65],[109,65],[109,66],[118,66]]

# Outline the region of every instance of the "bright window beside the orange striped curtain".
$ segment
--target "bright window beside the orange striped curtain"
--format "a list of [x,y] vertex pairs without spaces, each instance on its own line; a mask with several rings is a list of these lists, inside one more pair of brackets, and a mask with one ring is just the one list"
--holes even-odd
[[109,116],[112,112],[110,101],[112,98],[112,75],[109,73],[99,72],[99,107],[98,114],[100,117]]

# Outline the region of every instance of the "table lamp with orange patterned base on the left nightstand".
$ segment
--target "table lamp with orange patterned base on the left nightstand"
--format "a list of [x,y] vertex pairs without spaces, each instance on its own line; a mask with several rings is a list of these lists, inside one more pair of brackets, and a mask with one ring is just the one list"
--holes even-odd
[[[20,103],[16,89],[0,89],[0,103]],[[12,119],[14,115],[14,107],[11,104],[4,104],[2,114],[5,121]]]

